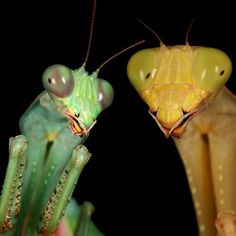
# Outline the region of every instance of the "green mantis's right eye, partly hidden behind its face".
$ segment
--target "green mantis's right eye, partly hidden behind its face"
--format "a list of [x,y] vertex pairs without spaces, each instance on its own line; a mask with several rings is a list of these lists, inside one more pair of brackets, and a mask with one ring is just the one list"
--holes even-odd
[[114,92],[112,86],[103,79],[98,79],[98,100],[102,109],[109,107],[113,101]]

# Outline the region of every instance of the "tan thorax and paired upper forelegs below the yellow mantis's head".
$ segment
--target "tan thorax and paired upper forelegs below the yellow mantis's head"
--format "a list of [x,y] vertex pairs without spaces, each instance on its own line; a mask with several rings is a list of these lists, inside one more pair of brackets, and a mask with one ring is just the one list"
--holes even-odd
[[236,100],[226,88],[187,126],[176,146],[183,160],[201,236],[215,235],[220,210],[236,210]]

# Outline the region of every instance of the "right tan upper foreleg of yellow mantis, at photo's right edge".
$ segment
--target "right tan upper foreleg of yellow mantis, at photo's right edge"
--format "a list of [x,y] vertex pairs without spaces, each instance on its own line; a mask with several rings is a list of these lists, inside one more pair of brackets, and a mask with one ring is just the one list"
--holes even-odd
[[[229,106],[229,94],[226,93],[221,97]],[[224,109],[227,107],[225,104]],[[235,108],[230,108],[227,112],[216,114],[209,133],[217,211],[236,211],[236,112],[234,110]]]

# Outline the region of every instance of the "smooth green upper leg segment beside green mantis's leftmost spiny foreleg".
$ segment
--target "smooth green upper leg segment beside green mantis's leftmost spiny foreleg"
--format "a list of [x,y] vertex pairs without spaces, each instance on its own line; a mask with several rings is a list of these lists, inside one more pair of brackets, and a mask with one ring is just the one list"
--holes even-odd
[[[37,211],[37,209],[33,208],[33,202],[42,180],[43,164],[47,152],[46,120],[43,115],[40,115],[43,114],[41,107],[34,106],[34,108],[33,112],[26,112],[20,120],[21,132],[28,140],[28,149],[27,165],[23,180],[22,208],[17,227],[14,230],[15,235],[26,234],[32,211]],[[31,235],[34,234],[32,233]]]

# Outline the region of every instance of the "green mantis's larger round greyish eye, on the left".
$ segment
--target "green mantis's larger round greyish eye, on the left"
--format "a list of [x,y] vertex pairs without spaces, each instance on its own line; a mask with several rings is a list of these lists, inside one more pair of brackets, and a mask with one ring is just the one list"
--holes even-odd
[[67,97],[74,88],[72,71],[63,65],[48,67],[42,77],[44,88],[59,98]]

